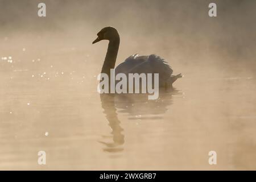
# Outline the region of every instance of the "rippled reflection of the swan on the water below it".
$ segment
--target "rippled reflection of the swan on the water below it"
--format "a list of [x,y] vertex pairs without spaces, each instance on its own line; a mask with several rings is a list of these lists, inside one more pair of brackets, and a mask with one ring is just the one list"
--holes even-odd
[[[179,90],[159,90],[158,100],[148,100],[147,94],[101,94],[101,106],[106,119],[112,129],[112,142],[103,142],[103,150],[106,152],[123,151],[125,135],[118,119],[118,113],[129,115],[127,119],[146,121],[146,119],[161,119],[162,115],[172,104],[172,95],[182,94]],[[104,136],[103,136],[104,137]],[[103,140],[106,137],[104,137]]]

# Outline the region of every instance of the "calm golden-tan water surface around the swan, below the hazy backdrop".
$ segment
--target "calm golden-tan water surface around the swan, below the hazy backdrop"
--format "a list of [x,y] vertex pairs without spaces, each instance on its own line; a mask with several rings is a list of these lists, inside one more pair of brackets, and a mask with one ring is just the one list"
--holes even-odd
[[[105,44],[98,53],[18,42],[1,42],[0,169],[256,169],[250,73],[169,60],[185,77],[158,100],[101,97]],[[46,165],[38,164],[40,150]]]

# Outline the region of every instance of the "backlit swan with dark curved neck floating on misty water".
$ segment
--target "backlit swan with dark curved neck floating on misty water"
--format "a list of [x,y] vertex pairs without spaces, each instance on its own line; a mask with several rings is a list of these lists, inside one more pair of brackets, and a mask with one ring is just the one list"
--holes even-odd
[[[108,51],[106,52],[101,73],[106,73],[110,76],[110,69],[114,69],[115,61],[117,60],[120,37],[117,29],[111,26],[102,28],[97,36],[98,37],[93,41],[93,44],[100,42],[101,40],[109,40]],[[149,56],[139,56],[138,54],[131,55],[115,68],[115,74],[159,73],[159,87],[165,88],[172,88],[172,84],[177,78],[183,77],[181,73],[179,75],[172,75],[172,72],[173,71],[167,61],[154,54]]]

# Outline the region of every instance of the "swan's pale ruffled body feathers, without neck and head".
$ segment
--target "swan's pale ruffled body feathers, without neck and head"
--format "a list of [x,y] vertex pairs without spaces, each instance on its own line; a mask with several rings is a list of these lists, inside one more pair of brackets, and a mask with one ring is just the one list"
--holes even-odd
[[123,63],[115,68],[118,73],[159,73],[159,86],[164,86],[170,82],[172,69],[170,65],[161,57],[154,54],[150,56],[131,55]]

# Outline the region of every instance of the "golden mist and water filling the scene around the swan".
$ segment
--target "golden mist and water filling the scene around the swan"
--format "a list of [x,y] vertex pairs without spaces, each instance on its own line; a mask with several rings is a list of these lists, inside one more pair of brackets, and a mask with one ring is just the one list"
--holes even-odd
[[[40,2],[0,1],[0,169],[255,169],[255,1]],[[155,53],[175,89],[100,96],[105,26],[116,66]]]

